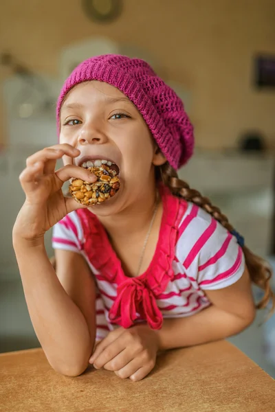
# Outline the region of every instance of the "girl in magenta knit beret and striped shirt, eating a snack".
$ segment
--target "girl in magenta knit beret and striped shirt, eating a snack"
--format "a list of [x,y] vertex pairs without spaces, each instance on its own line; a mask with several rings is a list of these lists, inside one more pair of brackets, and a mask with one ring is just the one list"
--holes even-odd
[[[30,317],[52,367],[77,376],[91,363],[140,380],[158,352],[250,325],[251,282],[265,291],[256,307],[265,307],[270,268],[178,179],[194,139],[175,92],[143,60],[97,56],[66,80],[57,123],[60,144],[32,155],[21,173],[26,199],[13,230]],[[111,200],[87,208],[63,196],[65,181],[93,183],[87,167],[107,161],[121,182]],[[43,240],[51,227],[56,271]]]

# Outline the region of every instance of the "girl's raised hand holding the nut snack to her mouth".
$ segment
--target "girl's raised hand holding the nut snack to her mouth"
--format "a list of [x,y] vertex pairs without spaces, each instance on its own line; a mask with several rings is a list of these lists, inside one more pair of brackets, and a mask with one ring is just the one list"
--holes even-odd
[[69,144],[58,144],[27,159],[27,167],[19,176],[26,198],[14,224],[13,233],[17,238],[41,238],[70,211],[85,207],[74,198],[63,196],[63,183],[71,177],[93,183],[96,176],[76,165],[66,165],[55,171],[56,161],[63,155],[74,158],[80,151]]

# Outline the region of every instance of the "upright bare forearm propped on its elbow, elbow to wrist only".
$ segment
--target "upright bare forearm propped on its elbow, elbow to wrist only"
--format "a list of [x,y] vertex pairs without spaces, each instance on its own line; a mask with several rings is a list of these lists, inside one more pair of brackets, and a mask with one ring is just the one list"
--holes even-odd
[[83,313],[59,282],[43,242],[30,246],[15,239],[14,251],[30,318],[48,361],[62,374],[82,373],[94,345]]

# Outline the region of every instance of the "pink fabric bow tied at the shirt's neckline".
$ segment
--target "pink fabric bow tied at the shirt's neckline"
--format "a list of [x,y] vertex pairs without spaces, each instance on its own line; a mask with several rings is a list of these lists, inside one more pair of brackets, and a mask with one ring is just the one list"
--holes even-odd
[[153,293],[144,282],[133,277],[118,286],[118,296],[109,311],[109,319],[123,328],[130,328],[139,315],[151,329],[162,328],[162,312]]

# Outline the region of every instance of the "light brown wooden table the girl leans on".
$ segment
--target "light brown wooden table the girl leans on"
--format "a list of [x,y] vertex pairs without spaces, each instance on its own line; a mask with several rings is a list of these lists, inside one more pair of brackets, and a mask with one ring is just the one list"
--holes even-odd
[[166,352],[140,382],[61,376],[34,349],[0,355],[0,400],[5,412],[274,412],[275,381],[226,341]]

